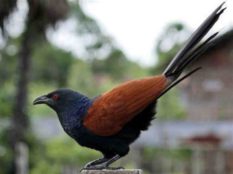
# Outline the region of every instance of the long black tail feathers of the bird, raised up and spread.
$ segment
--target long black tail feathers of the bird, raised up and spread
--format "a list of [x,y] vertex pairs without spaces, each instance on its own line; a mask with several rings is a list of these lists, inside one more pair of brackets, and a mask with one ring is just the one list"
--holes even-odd
[[[167,88],[160,94],[164,95],[168,90],[174,87],[176,84],[187,78],[194,72],[200,69],[196,68],[183,77],[180,77],[183,70],[195,59],[200,57],[202,53],[211,45],[210,41],[218,34],[218,32],[209,36],[204,42],[200,44],[201,39],[208,33],[212,26],[217,22],[220,15],[226,8],[223,8],[225,2],[223,2],[218,8],[216,8],[210,16],[197,28],[197,30],[191,35],[189,40],[183,46],[183,48],[175,55],[171,63],[164,70],[163,74],[168,78],[171,83]],[[180,77],[180,78],[179,78]],[[159,97],[160,97],[159,96]]]

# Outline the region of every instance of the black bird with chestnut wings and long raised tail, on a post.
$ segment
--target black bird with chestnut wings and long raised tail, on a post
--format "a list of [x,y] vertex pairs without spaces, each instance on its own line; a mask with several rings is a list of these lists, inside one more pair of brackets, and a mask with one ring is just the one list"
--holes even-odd
[[210,47],[218,32],[203,40],[226,7],[218,6],[194,31],[162,74],[119,84],[97,97],[61,88],[37,97],[58,115],[64,131],[78,144],[103,154],[83,169],[116,169],[110,165],[128,154],[130,145],[148,130],[156,114],[157,100],[201,67],[182,72]]

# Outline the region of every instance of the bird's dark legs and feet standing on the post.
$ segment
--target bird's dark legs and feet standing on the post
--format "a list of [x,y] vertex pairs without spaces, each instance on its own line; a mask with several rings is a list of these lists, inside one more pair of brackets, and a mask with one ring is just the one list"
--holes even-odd
[[117,167],[117,168],[108,167],[110,164],[117,161],[119,158],[121,158],[120,155],[115,155],[112,158],[102,158],[102,161],[98,161],[98,164],[92,163],[89,166],[86,165],[82,170],[122,169],[122,167]]

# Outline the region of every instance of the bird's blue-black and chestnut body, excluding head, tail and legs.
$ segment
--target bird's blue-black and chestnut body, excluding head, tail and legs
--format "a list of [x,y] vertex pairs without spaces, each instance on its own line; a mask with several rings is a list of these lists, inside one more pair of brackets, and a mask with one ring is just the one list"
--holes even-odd
[[60,97],[70,93],[72,105],[59,106],[57,115],[64,131],[80,145],[106,157],[124,156],[140,132],[148,128],[155,115],[156,96],[167,83],[163,75],[132,80],[94,99],[60,89]]

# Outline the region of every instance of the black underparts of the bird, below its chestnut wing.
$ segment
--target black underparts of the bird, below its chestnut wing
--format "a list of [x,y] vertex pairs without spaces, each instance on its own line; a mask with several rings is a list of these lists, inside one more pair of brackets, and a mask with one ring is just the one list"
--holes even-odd
[[112,136],[95,135],[86,129],[82,122],[66,132],[81,146],[101,151],[104,155],[125,155],[128,153],[129,145],[139,137],[140,132],[149,127],[155,115],[155,105],[155,103],[148,105],[119,133]]

